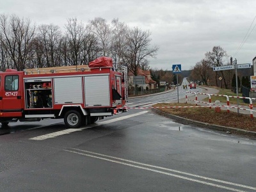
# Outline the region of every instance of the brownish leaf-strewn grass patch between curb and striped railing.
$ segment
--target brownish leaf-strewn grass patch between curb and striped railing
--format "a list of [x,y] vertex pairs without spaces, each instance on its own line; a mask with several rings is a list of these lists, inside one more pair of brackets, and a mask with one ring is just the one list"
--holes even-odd
[[[166,107],[166,106],[195,106],[194,104],[186,103],[160,103],[155,104],[153,107]],[[237,114],[226,110],[221,110],[220,113],[216,113],[215,109],[209,108],[158,108],[159,111],[168,113],[171,115],[181,116],[190,120],[196,120],[198,122],[205,122],[207,124],[222,125],[225,127],[233,127],[237,129],[244,129],[247,131],[256,131],[256,118],[250,118],[250,115]]]

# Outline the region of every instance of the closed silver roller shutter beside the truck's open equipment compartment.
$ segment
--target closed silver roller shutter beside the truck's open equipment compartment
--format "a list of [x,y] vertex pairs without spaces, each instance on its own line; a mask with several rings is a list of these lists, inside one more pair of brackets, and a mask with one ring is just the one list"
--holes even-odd
[[82,77],[54,78],[54,103],[83,103]]

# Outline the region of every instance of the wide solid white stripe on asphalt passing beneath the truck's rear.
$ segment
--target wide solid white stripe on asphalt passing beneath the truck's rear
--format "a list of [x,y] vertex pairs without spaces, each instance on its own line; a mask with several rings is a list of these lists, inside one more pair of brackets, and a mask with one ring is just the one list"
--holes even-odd
[[49,139],[49,138],[55,138],[56,136],[61,136],[63,134],[69,134],[70,132],[82,131],[83,129],[88,129],[88,128],[96,127],[96,126],[99,126],[99,125],[110,124],[110,123],[113,123],[113,122],[124,120],[126,118],[131,118],[132,116],[142,115],[142,114],[147,113],[147,112],[148,111],[141,111],[139,113],[134,113],[134,114],[131,114],[131,115],[120,116],[118,118],[113,118],[111,120],[106,120],[104,122],[99,122],[97,124],[92,124],[90,126],[86,126],[86,127],[79,128],[79,129],[65,129],[63,131],[52,132],[52,133],[49,133],[49,134],[44,134],[42,136],[36,136],[34,138],[30,138],[29,140],[41,141],[41,140],[46,140],[46,139]]

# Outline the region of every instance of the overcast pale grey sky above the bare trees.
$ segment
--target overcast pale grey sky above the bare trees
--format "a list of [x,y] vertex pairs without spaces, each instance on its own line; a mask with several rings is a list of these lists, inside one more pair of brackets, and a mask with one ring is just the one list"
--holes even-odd
[[[182,70],[189,70],[218,45],[237,63],[252,63],[256,56],[253,0],[0,0],[0,13],[61,28],[72,17],[84,24],[95,17],[108,22],[118,18],[131,28],[138,26],[152,33],[152,45],[158,45],[159,51],[156,59],[150,59],[151,68],[172,70],[179,63]],[[244,37],[246,42],[237,52]]]

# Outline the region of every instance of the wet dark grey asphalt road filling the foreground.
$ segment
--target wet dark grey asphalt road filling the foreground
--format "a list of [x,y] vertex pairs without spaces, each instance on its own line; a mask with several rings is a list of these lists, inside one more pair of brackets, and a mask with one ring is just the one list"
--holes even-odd
[[254,140],[147,109],[74,130],[62,120],[10,127],[0,128],[0,191],[256,191]]

